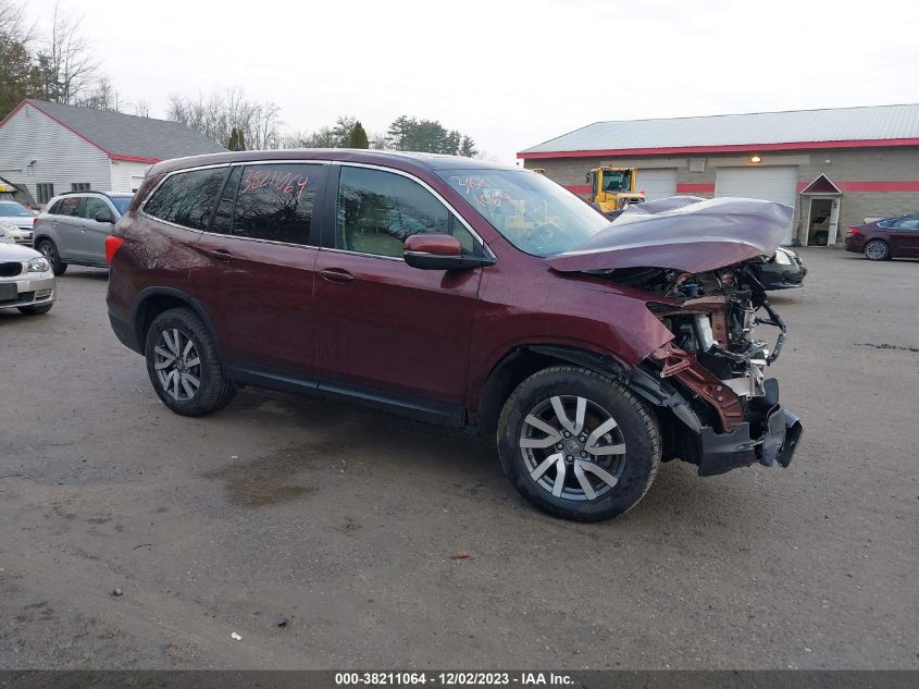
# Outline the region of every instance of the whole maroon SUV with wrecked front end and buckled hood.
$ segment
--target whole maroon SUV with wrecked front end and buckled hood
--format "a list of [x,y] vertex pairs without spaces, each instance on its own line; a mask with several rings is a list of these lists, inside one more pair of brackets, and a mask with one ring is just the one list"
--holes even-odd
[[496,433],[527,500],[597,520],[661,460],[791,462],[754,270],[788,221],[716,199],[610,225],[465,158],[220,153],[152,168],[107,245],[109,313],[178,414],[248,384]]

